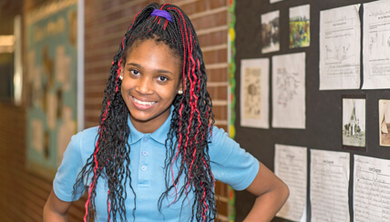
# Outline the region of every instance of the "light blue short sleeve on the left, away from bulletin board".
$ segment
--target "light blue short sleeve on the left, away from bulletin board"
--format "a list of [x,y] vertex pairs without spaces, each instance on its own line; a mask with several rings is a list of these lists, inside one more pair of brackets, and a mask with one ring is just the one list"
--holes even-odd
[[75,196],[73,196],[73,186],[76,183],[77,175],[85,165],[81,155],[82,135],[81,132],[72,136],[53,181],[56,197],[63,201],[76,201],[84,193],[84,185],[80,183],[75,190]]

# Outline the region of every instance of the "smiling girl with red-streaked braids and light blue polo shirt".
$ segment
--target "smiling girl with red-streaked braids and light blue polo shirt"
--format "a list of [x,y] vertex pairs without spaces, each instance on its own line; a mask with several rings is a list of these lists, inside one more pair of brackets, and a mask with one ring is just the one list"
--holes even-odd
[[269,221],[285,184],[213,126],[195,30],[176,5],[134,19],[111,66],[99,126],[73,136],[44,208],[66,221],[87,191],[95,221],[212,221],[214,182],[257,196],[246,221]]

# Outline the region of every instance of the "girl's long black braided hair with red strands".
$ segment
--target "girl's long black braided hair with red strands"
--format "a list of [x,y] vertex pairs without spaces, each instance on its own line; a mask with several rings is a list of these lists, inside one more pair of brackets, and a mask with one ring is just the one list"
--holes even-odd
[[[151,16],[154,9],[165,10],[172,17],[172,22],[164,17]],[[126,221],[125,199],[130,185],[133,192],[135,219],[136,193],[131,187],[131,172],[128,145],[130,130],[128,127],[128,107],[121,93],[119,80],[121,64],[126,60],[126,53],[135,43],[153,39],[169,45],[171,50],[180,55],[182,61],[183,94],[174,98],[171,124],[166,140],[167,156],[165,175],[167,190],[159,197],[159,210],[162,200],[174,192],[177,202],[180,197],[188,197],[193,192],[192,217],[197,221],[210,221],[217,215],[214,199],[214,177],[210,169],[209,142],[214,115],[211,111],[211,99],[206,88],[207,75],[198,37],[190,19],[176,5],[150,4],[139,12],[129,26],[119,45],[118,53],[110,69],[108,84],[102,102],[99,117],[97,143],[94,153],[87,159],[87,164],[78,174],[77,182],[88,179],[88,197],[86,215],[89,220],[94,213],[97,179],[104,177],[108,183],[108,221]],[[169,144],[169,146],[168,146]],[[173,165],[180,166],[177,175]],[[180,178],[184,181],[179,181]],[[180,186],[181,185],[181,186]],[[170,193],[169,193],[170,192]]]

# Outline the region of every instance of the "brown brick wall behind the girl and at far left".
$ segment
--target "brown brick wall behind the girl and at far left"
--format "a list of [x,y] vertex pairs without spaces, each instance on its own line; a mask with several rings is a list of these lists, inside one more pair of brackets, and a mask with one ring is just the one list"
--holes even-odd
[[[5,21],[16,14],[45,4],[45,0],[2,0],[0,33]],[[134,16],[148,0],[86,0],[85,3],[85,127],[97,126],[103,90],[108,79],[112,56],[121,36]],[[228,0],[157,1],[179,5],[197,31],[209,75],[208,89],[213,99],[216,125],[227,128],[227,32]],[[23,4],[22,4],[23,3]],[[8,19],[8,20],[7,20]],[[9,26],[9,25],[8,25]],[[3,35],[3,34],[2,34]],[[26,57],[24,57],[26,64]],[[26,72],[26,70],[25,70]],[[26,95],[26,91],[24,92]],[[26,104],[26,101],[24,101]],[[26,169],[26,109],[0,103],[0,220],[41,221],[42,208],[51,190],[51,180]],[[227,187],[217,184],[221,204],[220,220],[227,221]],[[80,221],[83,201],[69,211],[69,221]]]

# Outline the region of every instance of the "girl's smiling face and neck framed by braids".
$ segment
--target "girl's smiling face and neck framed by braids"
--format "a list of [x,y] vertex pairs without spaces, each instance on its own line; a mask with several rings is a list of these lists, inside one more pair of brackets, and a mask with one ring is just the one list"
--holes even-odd
[[139,132],[152,133],[168,118],[181,89],[180,67],[180,58],[169,46],[153,39],[135,43],[128,50],[121,66],[121,94]]

